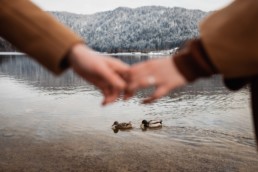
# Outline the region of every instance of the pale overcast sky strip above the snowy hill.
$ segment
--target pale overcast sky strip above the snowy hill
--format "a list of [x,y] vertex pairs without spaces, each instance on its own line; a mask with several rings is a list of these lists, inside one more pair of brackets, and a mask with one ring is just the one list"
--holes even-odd
[[140,6],[160,5],[165,7],[184,7],[203,11],[217,10],[232,0],[32,0],[44,10],[68,11],[80,14],[92,14],[113,10],[117,7],[136,8]]

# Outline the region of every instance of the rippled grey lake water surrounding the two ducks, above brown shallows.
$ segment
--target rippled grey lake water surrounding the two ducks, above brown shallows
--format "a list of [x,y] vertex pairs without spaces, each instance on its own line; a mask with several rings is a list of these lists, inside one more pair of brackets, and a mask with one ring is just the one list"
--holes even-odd
[[[131,65],[149,58],[120,59]],[[209,145],[222,152],[233,145],[244,161],[256,153],[248,88],[230,92],[214,76],[154,104],[140,104],[150,92],[142,90],[127,102],[102,107],[100,92],[71,71],[55,77],[25,56],[0,56],[0,135],[14,140],[29,136],[40,143],[100,133],[107,138],[170,140],[186,147]],[[164,126],[143,132],[143,119],[162,119]],[[115,134],[111,125],[116,120],[131,121],[134,129]]]

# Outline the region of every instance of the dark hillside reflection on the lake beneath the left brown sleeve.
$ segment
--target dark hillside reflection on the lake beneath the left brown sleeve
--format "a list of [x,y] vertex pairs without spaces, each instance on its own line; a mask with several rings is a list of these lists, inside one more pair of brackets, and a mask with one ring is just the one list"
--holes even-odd
[[85,82],[73,72],[67,72],[61,77],[49,73],[35,61],[25,56],[1,57],[1,75],[14,78],[21,82],[49,91],[72,90],[85,85]]

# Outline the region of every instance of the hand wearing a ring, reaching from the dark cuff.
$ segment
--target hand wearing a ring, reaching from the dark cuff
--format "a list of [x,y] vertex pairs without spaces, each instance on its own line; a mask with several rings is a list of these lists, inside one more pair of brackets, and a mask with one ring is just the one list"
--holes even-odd
[[171,58],[142,62],[131,67],[125,99],[133,96],[141,88],[155,86],[156,89],[143,103],[151,103],[165,96],[170,90],[183,86],[186,79],[179,73]]

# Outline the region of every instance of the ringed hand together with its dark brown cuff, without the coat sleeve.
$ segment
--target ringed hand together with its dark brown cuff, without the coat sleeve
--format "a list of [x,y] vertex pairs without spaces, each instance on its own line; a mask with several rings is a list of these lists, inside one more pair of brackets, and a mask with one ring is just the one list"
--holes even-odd
[[149,60],[132,66],[125,99],[138,89],[155,86],[153,94],[144,100],[144,103],[151,103],[170,90],[215,73],[217,70],[209,61],[201,40],[192,40],[173,57]]

